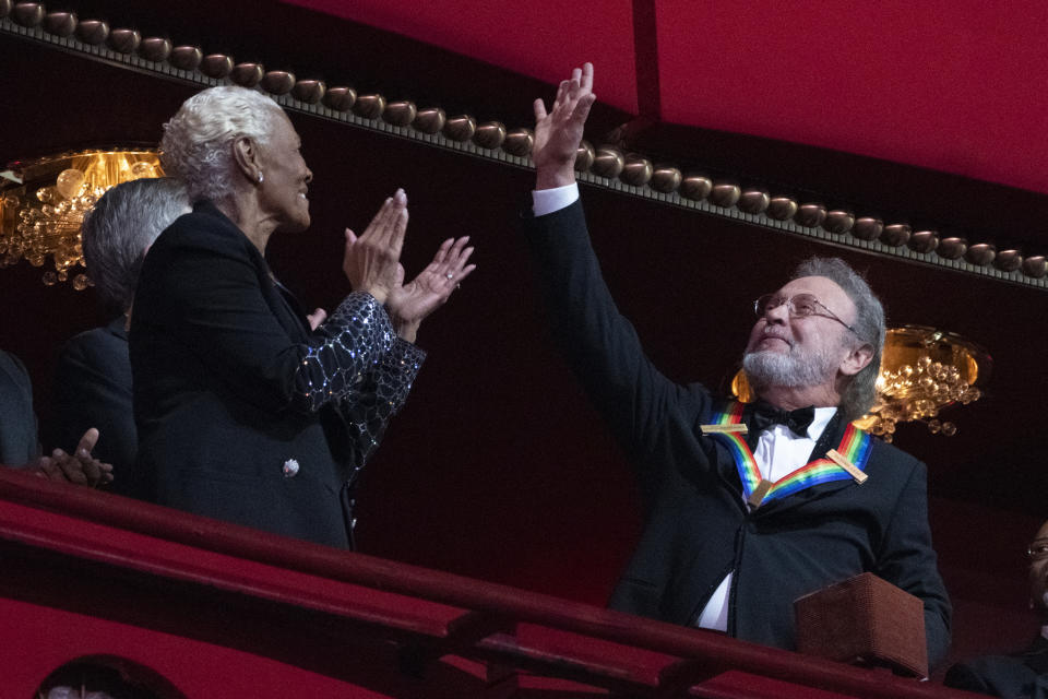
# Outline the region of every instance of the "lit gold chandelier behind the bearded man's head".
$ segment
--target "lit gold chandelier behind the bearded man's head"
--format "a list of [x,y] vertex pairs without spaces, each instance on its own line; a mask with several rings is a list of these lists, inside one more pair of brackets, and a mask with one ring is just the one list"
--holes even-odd
[[[877,378],[877,403],[855,425],[889,442],[895,426],[908,422],[952,437],[957,426],[940,419],[939,412],[979,400],[992,366],[986,350],[954,333],[924,325],[891,328]],[[731,380],[731,393],[742,402],[757,398],[741,370]]]

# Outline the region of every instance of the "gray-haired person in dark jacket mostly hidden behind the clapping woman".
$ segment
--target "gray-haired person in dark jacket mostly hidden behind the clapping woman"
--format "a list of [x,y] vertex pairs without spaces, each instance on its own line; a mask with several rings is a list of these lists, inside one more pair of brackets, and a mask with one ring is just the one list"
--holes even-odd
[[180,181],[143,178],[109,189],[84,216],[81,227],[87,273],[114,319],[75,335],[62,347],[49,441],[74,443],[78,435],[97,427],[95,454],[112,464],[115,493],[129,493],[138,452],[128,327],[139,270],[160,232],[190,211]]

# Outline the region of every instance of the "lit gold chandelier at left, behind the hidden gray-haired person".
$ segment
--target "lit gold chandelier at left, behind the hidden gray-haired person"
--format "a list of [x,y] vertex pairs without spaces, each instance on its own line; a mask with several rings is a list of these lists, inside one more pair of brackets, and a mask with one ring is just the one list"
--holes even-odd
[[110,187],[164,175],[154,149],[85,150],[8,167],[0,173],[0,268],[21,259],[44,266],[50,258],[44,283],[71,280],[78,291],[91,285],[82,271],[84,214]]

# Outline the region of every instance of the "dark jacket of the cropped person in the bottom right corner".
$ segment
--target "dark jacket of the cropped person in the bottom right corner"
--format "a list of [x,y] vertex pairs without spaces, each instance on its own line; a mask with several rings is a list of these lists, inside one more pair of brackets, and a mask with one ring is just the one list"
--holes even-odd
[[1048,640],[1037,640],[1022,653],[987,655],[957,663],[943,684],[1007,699],[1048,699]]

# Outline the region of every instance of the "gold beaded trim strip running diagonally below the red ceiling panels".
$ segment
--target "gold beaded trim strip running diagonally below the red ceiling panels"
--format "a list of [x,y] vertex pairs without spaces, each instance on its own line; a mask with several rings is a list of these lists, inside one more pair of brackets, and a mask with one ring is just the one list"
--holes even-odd
[[[44,16],[43,11],[38,14]],[[261,74],[259,84],[283,91],[294,79],[294,75],[285,71],[263,72],[262,67],[258,64],[245,63],[238,67],[234,64],[231,57],[224,56],[218,58],[228,58],[228,63],[234,66],[231,71],[224,78],[212,78],[201,72],[201,67],[206,69],[209,66],[218,66],[219,63],[214,60],[211,62],[205,60],[192,70],[176,68],[170,63],[174,59],[187,64],[186,61],[189,59],[186,47],[179,47],[181,50],[176,49],[165,55],[166,51],[153,50],[156,42],[147,37],[142,39],[136,49],[121,52],[105,44],[83,43],[75,33],[70,36],[49,34],[41,28],[47,25],[46,19],[36,26],[22,26],[14,22],[13,16],[12,14],[0,17],[0,34],[38,42],[93,60],[202,87],[237,84],[237,79],[249,80],[251,86],[254,86],[254,79]],[[114,35],[116,31],[110,35],[110,40]],[[128,46],[122,48],[127,49]],[[147,59],[144,57],[145,54],[158,60]],[[209,57],[209,59],[213,58]],[[212,68],[213,72],[214,70]],[[345,98],[346,94],[355,96],[355,93],[348,88],[327,90],[323,84],[318,84],[318,81],[300,82],[301,90],[297,88],[299,85],[296,83],[290,92],[281,95],[271,93],[271,96],[286,109],[294,111],[515,167],[532,167],[531,159],[526,157],[529,150],[527,129],[513,129],[505,132],[505,127],[498,122],[476,125],[475,119],[467,115],[448,119],[443,130],[437,132],[432,132],[434,122],[429,118],[432,115],[428,115],[425,120],[416,119],[407,126],[400,126],[414,114],[413,104],[398,102],[386,105],[382,95],[361,96],[354,104],[354,99]],[[321,95],[325,92],[327,95],[342,97],[341,102],[327,99],[338,107],[337,109],[324,104]],[[295,97],[296,94],[313,102],[300,100]],[[360,114],[350,109],[356,109]],[[390,114],[386,115],[386,111]],[[484,147],[481,144],[487,144],[489,147]],[[584,143],[583,147],[585,153],[580,157],[580,169],[583,171],[577,175],[579,180],[586,185],[814,239],[830,246],[1048,291],[1048,262],[1045,256],[1024,258],[1017,250],[998,252],[989,244],[968,246],[964,242],[958,244],[955,238],[940,241],[939,234],[934,230],[912,233],[906,224],[884,225],[884,222],[862,217],[853,212],[826,212],[818,204],[803,203],[786,197],[770,198],[767,192],[760,188],[750,188],[742,192],[730,182],[714,182],[701,176],[689,177],[674,167],[659,166],[653,169],[652,161],[633,154],[626,157],[614,147],[602,146],[595,151],[588,143]],[[508,152],[507,149],[512,149],[516,154]]]

